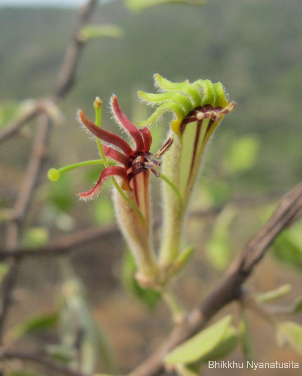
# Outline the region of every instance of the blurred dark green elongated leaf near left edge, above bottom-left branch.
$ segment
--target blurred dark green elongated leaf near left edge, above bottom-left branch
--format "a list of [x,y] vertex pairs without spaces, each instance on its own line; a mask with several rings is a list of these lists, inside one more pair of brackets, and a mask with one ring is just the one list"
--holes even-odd
[[58,323],[59,318],[57,312],[53,312],[45,315],[36,315],[30,317],[20,324],[13,327],[8,336],[14,341],[24,337],[26,334],[32,334],[42,332],[47,329],[53,328]]

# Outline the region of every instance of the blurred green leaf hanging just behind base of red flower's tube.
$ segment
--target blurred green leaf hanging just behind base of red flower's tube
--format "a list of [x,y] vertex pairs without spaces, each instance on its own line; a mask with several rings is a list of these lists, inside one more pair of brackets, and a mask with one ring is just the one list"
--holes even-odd
[[155,309],[160,293],[151,289],[143,289],[134,278],[136,264],[129,250],[124,253],[122,264],[122,282],[125,288],[144,303],[150,311]]

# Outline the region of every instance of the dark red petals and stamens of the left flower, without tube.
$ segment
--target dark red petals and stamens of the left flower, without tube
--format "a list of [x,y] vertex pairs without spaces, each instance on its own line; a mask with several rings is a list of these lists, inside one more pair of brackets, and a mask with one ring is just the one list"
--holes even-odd
[[[112,96],[111,108],[115,121],[125,130],[133,139],[134,147],[131,147],[123,138],[112,132],[104,130],[92,123],[82,110],[79,111],[80,122],[90,130],[95,136],[104,141],[102,143],[104,154],[118,165],[106,167],[102,170],[98,182],[91,190],[82,192],[79,196],[82,199],[89,200],[97,196],[101,186],[110,176],[119,176],[122,179],[121,187],[123,190],[134,190],[137,204],[139,205],[139,194],[137,192],[136,179],[137,175],[144,173],[144,179],[148,179],[149,170],[156,176],[159,172],[156,167],[160,166],[160,160],[157,157],[165,153],[172,145],[173,140],[168,141],[154,155],[150,153],[152,136],[148,128],[137,129],[133,123],[122,112],[116,96]],[[110,146],[109,146],[110,145]]]

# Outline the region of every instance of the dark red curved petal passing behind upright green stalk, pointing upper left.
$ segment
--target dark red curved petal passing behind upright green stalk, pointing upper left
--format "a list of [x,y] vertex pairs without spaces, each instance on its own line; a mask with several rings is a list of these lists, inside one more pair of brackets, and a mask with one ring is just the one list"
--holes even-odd
[[85,127],[88,128],[91,133],[93,133],[95,136],[97,136],[101,140],[119,147],[119,149],[121,149],[127,156],[133,152],[130,145],[124,139],[115,135],[112,132],[108,132],[107,130],[97,127],[88,118],[86,118],[82,110],[79,111],[79,118],[82,124],[85,125]]

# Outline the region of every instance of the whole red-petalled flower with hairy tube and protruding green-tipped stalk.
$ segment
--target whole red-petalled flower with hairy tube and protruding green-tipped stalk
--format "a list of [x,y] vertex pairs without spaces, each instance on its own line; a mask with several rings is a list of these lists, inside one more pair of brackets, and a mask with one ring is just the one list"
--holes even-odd
[[[96,121],[92,123],[82,110],[78,112],[80,123],[89,132],[96,136],[101,160],[104,164],[100,177],[93,188],[79,193],[80,199],[89,200],[95,198],[102,185],[109,177],[112,177],[115,186],[113,201],[116,218],[128,246],[136,260],[137,278],[145,284],[154,284],[159,274],[155,252],[151,239],[151,210],[149,197],[149,174],[160,176],[159,157],[172,145],[172,139],[160,148],[154,155],[150,152],[152,136],[148,128],[137,129],[122,112],[116,96],[111,98],[111,109],[116,123],[133,139],[131,146],[120,136],[104,130],[101,125],[101,105],[99,98],[95,100]],[[110,165],[107,158],[115,163]],[[48,171],[48,177],[56,180],[60,173],[79,165],[95,164],[96,161],[82,162]]]

